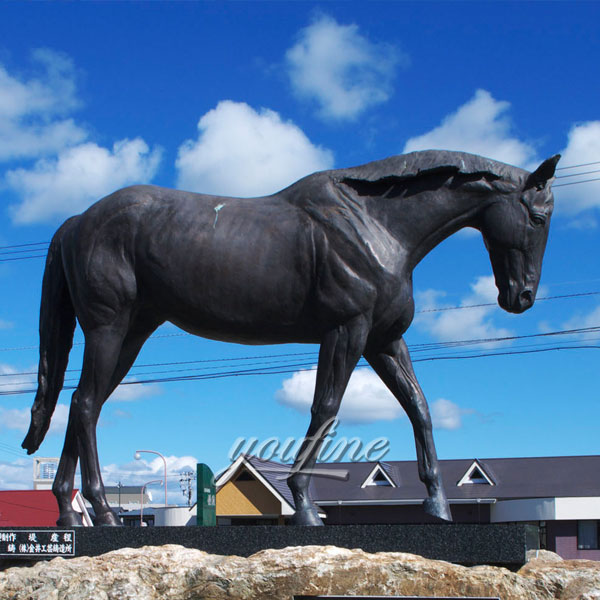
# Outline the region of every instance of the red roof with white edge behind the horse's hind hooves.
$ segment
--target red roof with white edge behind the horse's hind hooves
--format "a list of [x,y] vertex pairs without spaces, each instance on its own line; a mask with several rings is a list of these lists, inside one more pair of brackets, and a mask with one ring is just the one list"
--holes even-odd
[[[84,523],[91,525],[78,490],[73,490],[71,501],[83,513]],[[57,519],[58,504],[52,490],[0,491],[0,527],[55,527]]]

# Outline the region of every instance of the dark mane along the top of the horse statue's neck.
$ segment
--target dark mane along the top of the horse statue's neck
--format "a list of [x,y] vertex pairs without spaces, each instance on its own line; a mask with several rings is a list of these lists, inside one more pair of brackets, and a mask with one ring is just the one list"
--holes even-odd
[[363,181],[374,183],[382,179],[407,180],[434,173],[481,175],[513,184],[522,184],[528,171],[489,158],[449,150],[424,150],[391,156],[359,167],[329,171],[336,181]]

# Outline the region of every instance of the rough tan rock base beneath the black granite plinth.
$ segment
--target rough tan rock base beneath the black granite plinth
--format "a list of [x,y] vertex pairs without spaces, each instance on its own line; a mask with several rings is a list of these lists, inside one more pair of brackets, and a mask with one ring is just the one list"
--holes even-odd
[[0,573],[2,600],[291,600],[294,594],[600,600],[600,562],[563,561],[541,552],[513,573],[334,546],[263,550],[242,558],[169,545],[56,558]]

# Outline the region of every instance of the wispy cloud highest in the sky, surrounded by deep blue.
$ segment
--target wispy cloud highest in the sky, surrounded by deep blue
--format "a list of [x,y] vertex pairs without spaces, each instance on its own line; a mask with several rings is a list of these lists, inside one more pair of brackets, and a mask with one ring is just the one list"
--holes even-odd
[[362,36],[357,25],[340,25],[327,16],[302,29],[286,53],[294,91],[316,101],[326,119],[355,119],[388,100],[402,59],[396,48]]

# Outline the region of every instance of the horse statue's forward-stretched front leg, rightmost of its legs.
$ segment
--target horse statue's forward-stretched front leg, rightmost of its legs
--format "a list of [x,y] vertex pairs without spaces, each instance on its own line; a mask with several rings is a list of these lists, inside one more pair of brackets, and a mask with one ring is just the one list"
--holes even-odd
[[401,338],[383,348],[367,348],[365,358],[396,396],[413,426],[419,478],[429,495],[423,502],[425,512],[452,521],[435,451],[427,400],[415,377],[406,343]]

